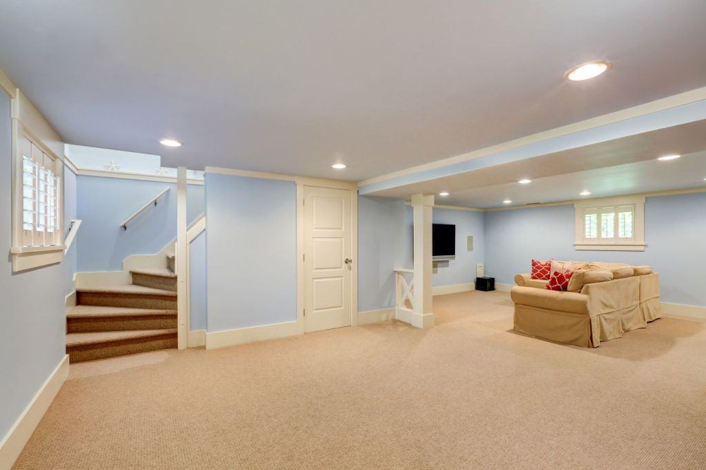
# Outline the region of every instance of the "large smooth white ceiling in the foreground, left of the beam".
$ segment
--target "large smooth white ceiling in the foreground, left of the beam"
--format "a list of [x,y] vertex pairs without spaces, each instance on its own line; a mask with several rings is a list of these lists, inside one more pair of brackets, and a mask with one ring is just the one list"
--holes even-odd
[[[69,143],[362,180],[702,87],[704,18],[703,0],[0,0],[0,68]],[[613,68],[563,80],[594,59]]]

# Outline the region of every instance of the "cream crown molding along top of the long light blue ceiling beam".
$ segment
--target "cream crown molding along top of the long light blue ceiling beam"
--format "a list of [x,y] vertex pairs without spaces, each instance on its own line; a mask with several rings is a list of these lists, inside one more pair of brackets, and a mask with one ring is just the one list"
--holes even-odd
[[671,97],[657,99],[655,101],[650,101],[649,103],[640,104],[638,106],[633,106],[628,109],[622,109],[621,111],[614,111],[613,113],[608,113],[604,114],[603,116],[597,116],[595,118],[582,120],[578,123],[568,124],[559,128],[545,130],[543,132],[538,132],[537,134],[532,134],[526,137],[520,137],[519,139],[503,142],[502,144],[497,144],[491,147],[485,147],[483,149],[470,151],[466,154],[452,156],[448,159],[441,159],[433,161],[431,163],[425,163],[424,165],[412,166],[410,168],[405,168],[404,170],[395,171],[393,173],[387,173],[385,175],[376,176],[367,180],[362,180],[359,181],[358,186],[361,187],[366,185],[372,185],[374,183],[381,183],[386,180],[400,178],[401,176],[412,175],[421,171],[443,168],[445,166],[450,166],[455,163],[462,163],[465,161],[477,159],[481,156],[496,154],[501,151],[507,151],[510,149],[515,149],[517,147],[523,147],[529,144],[535,144],[544,140],[555,139],[556,137],[562,137],[564,135],[573,134],[575,132],[582,132],[585,130],[598,128],[603,125],[618,123],[621,120],[638,118],[647,114],[664,111],[666,109],[676,108],[677,106],[683,106],[705,99],[706,87],[693,89],[689,92],[684,92],[681,94],[675,94]]

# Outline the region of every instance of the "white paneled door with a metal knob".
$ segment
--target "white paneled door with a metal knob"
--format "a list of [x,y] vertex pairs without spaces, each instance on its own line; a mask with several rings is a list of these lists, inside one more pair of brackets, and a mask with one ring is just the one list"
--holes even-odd
[[351,192],[304,187],[304,330],[351,324]]

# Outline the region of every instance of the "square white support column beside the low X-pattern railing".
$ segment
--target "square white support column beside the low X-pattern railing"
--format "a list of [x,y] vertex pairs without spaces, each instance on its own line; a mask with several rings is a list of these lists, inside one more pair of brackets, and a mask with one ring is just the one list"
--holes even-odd
[[412,326],[434,326],[431,311],[431,211],[434,197],[431,194],[414,194],[414,313]]

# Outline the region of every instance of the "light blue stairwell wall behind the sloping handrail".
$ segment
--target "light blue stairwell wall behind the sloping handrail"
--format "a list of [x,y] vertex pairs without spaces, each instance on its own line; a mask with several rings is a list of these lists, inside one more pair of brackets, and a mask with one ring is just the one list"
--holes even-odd
[[[120,271],[126,257],[156,254],[177,237],[177,185],[79,175],[77,180],[78,271]],[[120,224],[165,187],[157,206],[150,206],[127,230]],[[203,214],[203,186],[187,188],[189,223]]]

